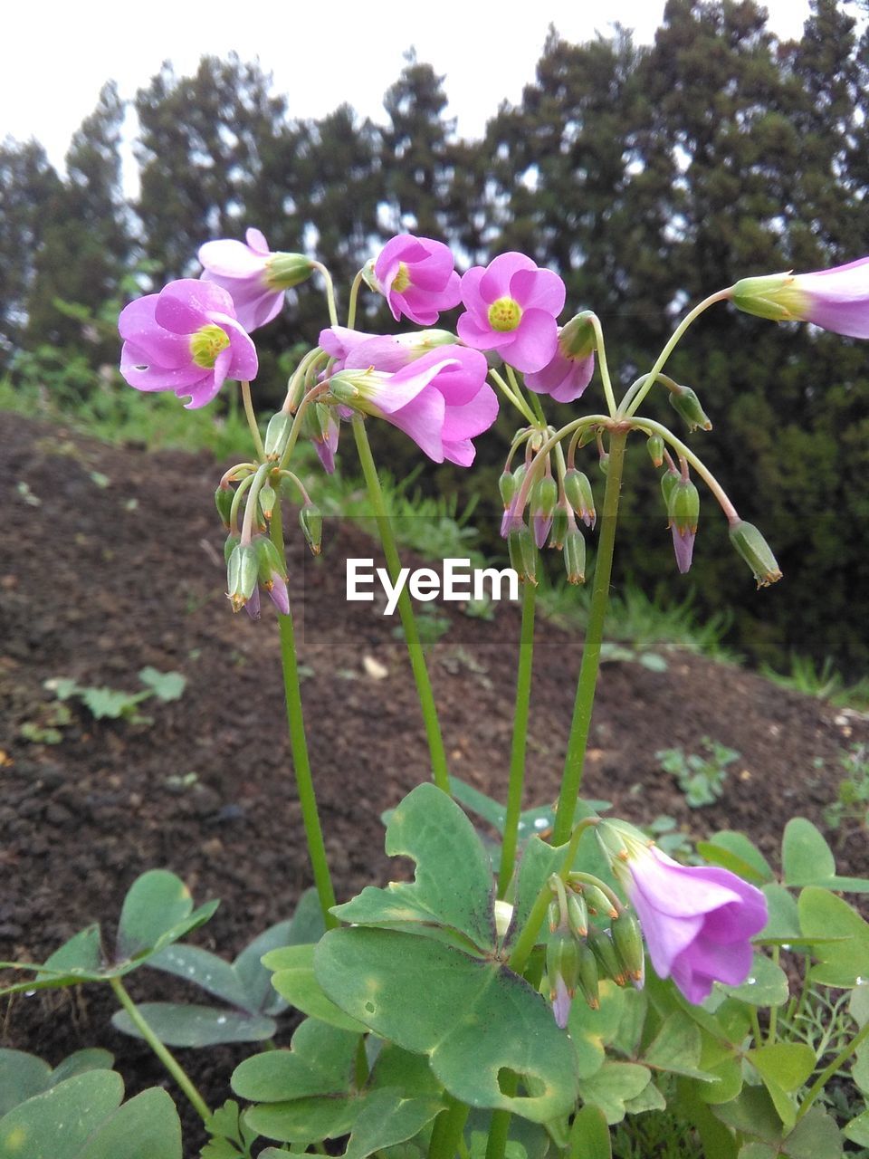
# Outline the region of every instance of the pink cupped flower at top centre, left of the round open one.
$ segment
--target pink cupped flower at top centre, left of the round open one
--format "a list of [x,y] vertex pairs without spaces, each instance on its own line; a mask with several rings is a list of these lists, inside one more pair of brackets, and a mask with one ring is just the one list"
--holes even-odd
[[417,326],[432,326],[441,309],[458,306],[461,293],[453,267],[443,241],[409,233],[387,241],[374,262],[374,277],[395,321],[403,314]]

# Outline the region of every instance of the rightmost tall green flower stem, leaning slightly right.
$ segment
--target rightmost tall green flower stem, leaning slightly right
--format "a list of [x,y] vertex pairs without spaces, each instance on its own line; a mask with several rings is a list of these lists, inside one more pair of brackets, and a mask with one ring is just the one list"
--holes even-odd
[[558,795],[558,811],[555,815],[555,826],[552,836],[553,845],[563,845],[570,836],[576,800],[583,779],[585,750],[589,743],[589,728],[591,726],[591,710],[594,705],[594,691],[600,668],[600,646],[604,642],[604,621],[609,604],[609,577],[613,570],[615,524],[619,516],[621,476],[625,468],[625,446],[628,440],[628,427],[614,427],[611,432],[609,471],[606,476],[606,490],[604,493],[604,511],[600,540],[598,541],[598,555],[594,563],[591,610],[589,612],[589,625],[585,630],[583,661],[579,665],[579,680],[576,686],[574,720],[570,726],[564,774]]

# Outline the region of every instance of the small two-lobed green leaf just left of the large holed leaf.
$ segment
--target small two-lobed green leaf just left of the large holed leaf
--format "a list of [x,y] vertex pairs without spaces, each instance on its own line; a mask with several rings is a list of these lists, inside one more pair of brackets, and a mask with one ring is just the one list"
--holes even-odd
[[250,1102],[344,1094],[352,1085],[358,1043],[358,1034],[306,1019],[290,1050],[268,1050],[240,1063],[232,1088]]

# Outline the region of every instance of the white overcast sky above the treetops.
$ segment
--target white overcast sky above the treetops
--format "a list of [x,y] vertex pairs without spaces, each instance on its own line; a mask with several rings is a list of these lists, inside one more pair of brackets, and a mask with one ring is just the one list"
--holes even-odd
[[[774,32],[799,36],[809,0],[766,0],[765,7]],[[319,117],[349,101],[382,122],[382,95],[411,45],[446,74],[447,114],[458,117],[460,134],[475,137],[499,103],[518,101],[533,79],[549,23],[582,43],[596,30],[608,35],[619,21],[648,43],[663,10],[664,0],[79,0],[50,10],[39,0],[19,0],[2,21],[0,138],[35,137],[60,166],[107,80],[132,97],[165,59],[182,75],[199,57],[232,50],[273,73],[291,116]]]

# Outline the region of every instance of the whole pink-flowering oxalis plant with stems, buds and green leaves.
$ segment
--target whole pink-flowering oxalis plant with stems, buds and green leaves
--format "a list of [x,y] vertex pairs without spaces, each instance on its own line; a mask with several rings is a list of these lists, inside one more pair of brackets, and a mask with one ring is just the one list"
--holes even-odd
[[[228,962],[184,941],[217,903],[193,909],[183,883],[155,869],[132,884],[112,946],[90,926],[44,963],[2,963],[27,975],[5,992],[110,985],[121,1007],[116,1025],[151,1044],[202,1115],[211,1136],[205,1159],[287,1151],[606,1159],[611,1124],[665,1110],[673,1138],[689,1139],[692,1153],[708,1159],[838,1159],[846,1145],[869,1146],[869,925],[840,896],[869,891],[869,882],[837,875],[826,841],[805,819],[786,830],[780,874],[736,832],[698,846],[706,865],[682,866],[579,796],[628,439],[644,439],[663,468],[679,570],[691,566],[696,479],[758,584],[780,577],[761,533],[740,519],[700,457],[645,416],[647,396],[663,389],[691,430],[709,428],[696,394],[664,367],[688,327],[721,302],[869,337],[869,258],[744,278],[710,294],[621,399],[598,318],[583,311],[560,327],[561,278],[523,254],[503,254],[460,278],[446,246],[393,238],[353,280],[345,325],[324,267],[271,253],[256,229],[246,243],[204,245],[199,258],[200,279],[174,282],[123,311],[122,372],[137,389],[173,391],[189,407],[209,403],[226,380],[241,385],[253,450],[216,494],[227,590],[236,612],[257,619],[263,596],[276,608],[314,889]],[[250,331],[312,275],[324,284],[329,325],[299,360],[261,437]],[[364,286],[386,299],[396,322],[418,329],[357,330]],[[455,334],[432,328],[441,311],[460,305]],[[546,399],[577,403],[596,370],[603,404],[555,429]],[[312,439],[331,471],[349,428],[395,586],[400,559],[367,424],[389,422],[433,461],[469,468],[473,439],[499,406],[519,424],[501,476],[502,530],[521,581],[506,804],[450,775],[402,589],[432,780],[396,802],[386,852],[411,859],[416,874],[336,904],[306,744],[284,500],[298,500],[314,552],[321,518],[293,455],[300,437]],[[547,544],[560,551],[568,580],[583,582],[585,537],[598,522],[580,452],[597,457],[605,476],[591,610],[557,806],[524,814],[538,553]],[[462,804],[499,831],[496,865]],[[143,965],[198,984],[220,1005],[137,1005],[124,979]],[[301,1018],[291,1045],[265,1049],[290,1007]],[[809,1033],[818,1011],[830,1009],[835,1029]],[[210,1107],[173,1048],[227,1041],[263,1049],[233,1072],[233,1098]],[[83,1051],[52,1071],[32,1056],[0,1054],[0,1156],[178,1159],[169,1096],[153,1089],[122,1102],[111,1063],[104,1051]]]

